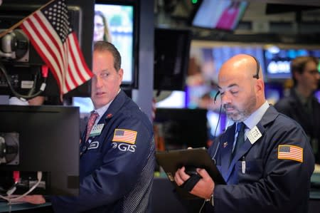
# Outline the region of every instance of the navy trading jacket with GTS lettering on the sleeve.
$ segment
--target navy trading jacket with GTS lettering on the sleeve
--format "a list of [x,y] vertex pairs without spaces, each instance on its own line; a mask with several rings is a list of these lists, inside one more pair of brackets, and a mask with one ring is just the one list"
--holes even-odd
[[[149,119],[120,91],[99,124],[104,124],[100,135],[89,137],[90,144],[82,141],[80,145],[79,197],[52,197],[53,209],[68,213],[149,212],[155,165]],[[137,137],[133,142],[123,142],[122,137],[115,140],[118,130],[137,133]]]

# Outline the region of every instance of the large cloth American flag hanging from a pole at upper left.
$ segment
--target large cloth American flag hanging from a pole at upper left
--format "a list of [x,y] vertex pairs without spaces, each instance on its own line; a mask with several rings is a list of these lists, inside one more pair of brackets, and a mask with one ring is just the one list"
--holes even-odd
[[21,28],[50,68],[61,94],[68,93],[92,78],[78,38],[70,28],[65,0],[50,1],[28,16]]

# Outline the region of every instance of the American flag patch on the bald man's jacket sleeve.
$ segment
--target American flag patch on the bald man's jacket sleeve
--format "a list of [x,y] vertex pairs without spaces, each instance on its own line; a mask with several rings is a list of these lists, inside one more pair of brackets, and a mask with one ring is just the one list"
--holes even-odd
[[302,147],[297,147],[294,145],[279,145],[278,159],[303,162],[303,152],[304,149]]

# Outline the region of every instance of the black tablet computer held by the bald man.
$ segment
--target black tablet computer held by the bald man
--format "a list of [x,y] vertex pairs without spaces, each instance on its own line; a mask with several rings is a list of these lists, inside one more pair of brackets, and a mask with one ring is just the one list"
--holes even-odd
[[156,162],[164,169],[166,176],[176,186],[176,192],[183,199],[199,199],[186,189],[178,187],[174,181],[174,174],[178,168],[183,166],[192,166],[206,169],[215,185],[225,185],[225,180],[220,174],[218,168],[211,160],[205,147],[193,148],[188,150],[166,150],[156,152]]

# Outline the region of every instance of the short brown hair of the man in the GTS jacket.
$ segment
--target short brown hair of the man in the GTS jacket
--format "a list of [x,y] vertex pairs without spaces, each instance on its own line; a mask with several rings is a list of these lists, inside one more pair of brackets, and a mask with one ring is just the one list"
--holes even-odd
[[114,58],[114,68],[119,71],[121,68],[121,56],[117,48],[108,41],[96,41],[93,45],[93,51],[109,51]]

